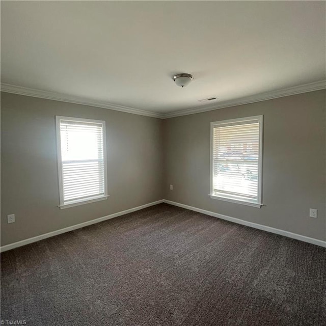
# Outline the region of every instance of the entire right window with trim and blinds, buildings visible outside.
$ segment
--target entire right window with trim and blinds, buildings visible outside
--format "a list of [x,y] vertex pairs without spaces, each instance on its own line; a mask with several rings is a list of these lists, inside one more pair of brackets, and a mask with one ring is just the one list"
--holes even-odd
[[211,123],[210,197],[260,207],[263,116]]

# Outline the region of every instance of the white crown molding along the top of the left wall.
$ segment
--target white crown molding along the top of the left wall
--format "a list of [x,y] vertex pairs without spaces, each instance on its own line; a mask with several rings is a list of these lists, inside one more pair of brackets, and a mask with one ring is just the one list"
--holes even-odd
[[68,102],[68,103],[75,103],[75,104],[82,104],[82,105],[89,105],[89,106],[95,106],[95,107],[101,107],[101,108],[107,108],[108,110],[115,110],[115,111],[121,111],[131,114],[137,114],[141,116],[147,116],[147,117],[153,117],[153,118],[162,118],[162,114],[155,113],[155,112],[149,112],[145,110],[140,110],[138,108],[129,107],[129,106],[123,106],[108,102],[101,102],[93,99],[88,99],[84,97],[79,96],[72,96],[67,94],[59,94],[54,92],[48,92],[48,91],[41,91],[33,88],[27,88],[27,87],[21,87],[21,86],[15,86],[10,84],[1,84],[1,91],[6,93],[13,93],[13,94],[19,94],[19,95],[25,95],[25,96],[32,96],[32,97],[39,97],[39,98],[45,98],[48,100],[55,100],[55,101],[61,101],[61,102]]

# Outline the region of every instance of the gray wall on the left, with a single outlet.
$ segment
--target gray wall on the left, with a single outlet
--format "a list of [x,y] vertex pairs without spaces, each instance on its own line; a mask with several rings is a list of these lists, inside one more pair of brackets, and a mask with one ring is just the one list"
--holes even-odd
[[[1,106],[2,246],[163,198],[162,120],[8,93]],[[107,200],[57,207],[56,115],[106,121]]]

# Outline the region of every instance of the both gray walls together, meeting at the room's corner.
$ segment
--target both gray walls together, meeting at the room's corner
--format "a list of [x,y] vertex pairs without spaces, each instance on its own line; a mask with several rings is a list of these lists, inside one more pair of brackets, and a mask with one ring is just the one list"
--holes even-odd
[[[310,92],[160,120],[2,93],[1,244],[163,198],[325,240],[325,94]],[[261,114],[265,206],[210,199],[210,122]],[[106,121],[107,200],[57,207],[56,115]],[[318,219],[308,217],[309,208],[318,209]],[[7,224],[11,213],[16,223]]]

